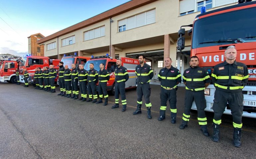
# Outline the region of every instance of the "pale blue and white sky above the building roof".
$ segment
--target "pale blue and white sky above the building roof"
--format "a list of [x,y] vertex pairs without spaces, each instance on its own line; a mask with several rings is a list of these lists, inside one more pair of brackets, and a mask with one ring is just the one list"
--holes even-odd
[[1,0],[0,54],[28,53],[28,37],[51,35],[129,0]]

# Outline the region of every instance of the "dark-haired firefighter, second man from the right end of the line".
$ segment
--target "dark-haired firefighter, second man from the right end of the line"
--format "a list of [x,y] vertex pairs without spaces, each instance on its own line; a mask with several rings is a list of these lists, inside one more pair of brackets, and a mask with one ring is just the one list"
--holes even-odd
[[192,56],[190,59],[190,68],[183,73],[183,82],[186,85],[185,94],[185,110],[182,117],[180,129],[188,126],[190,119],[190,109],[193,101],[195,101],[197,109],[197,120],[204,136],[209,136],[207,131],[207,119],[204,109],[206,108],[206,100],[204,97],[204,89],[210,84],[210,76],[207,70],[198,67],[199,59]]

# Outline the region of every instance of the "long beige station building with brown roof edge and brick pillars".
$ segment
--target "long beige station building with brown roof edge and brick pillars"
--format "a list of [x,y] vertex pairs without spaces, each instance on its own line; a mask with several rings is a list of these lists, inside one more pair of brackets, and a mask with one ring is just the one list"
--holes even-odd
[[[183,72],[189,67],[191,37],[186,48],[177,51],[178,30],[193,23],[201,7],[207,11],[237,4],[235,0],[132,0],[83,22],[38,40],[45,56],[61,59],[64,54],[138,58],[145,54],[155,72],[164,57]],[[187,27],[186,30],[189,30]]]

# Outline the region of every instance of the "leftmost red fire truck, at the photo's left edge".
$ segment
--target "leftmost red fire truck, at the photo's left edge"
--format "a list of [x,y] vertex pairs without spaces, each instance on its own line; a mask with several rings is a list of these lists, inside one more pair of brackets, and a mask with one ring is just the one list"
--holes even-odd
[[17,83],[16,69],[20,56],[0,55],[0,82]]

